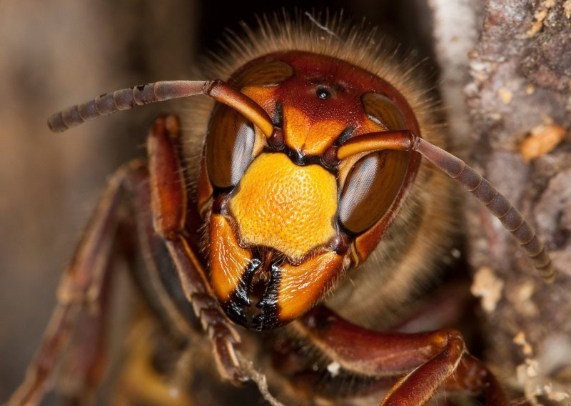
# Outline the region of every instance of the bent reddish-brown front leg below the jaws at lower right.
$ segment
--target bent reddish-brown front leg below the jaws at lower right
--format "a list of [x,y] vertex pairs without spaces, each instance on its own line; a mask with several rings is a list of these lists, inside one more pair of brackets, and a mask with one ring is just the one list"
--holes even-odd
[[369,377],[403,376],[381,405],[425,405],[438,389],[481,394],[488,406],[507,405],[495,377],[466,352],[455,330],[415,334],[358,327],[316,307],[298,329],[343,369]]

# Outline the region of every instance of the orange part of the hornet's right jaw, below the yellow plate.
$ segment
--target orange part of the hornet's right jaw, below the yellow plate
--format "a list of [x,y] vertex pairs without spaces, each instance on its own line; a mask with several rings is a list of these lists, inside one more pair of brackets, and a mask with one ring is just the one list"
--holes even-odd
[[278,319],[289,322],[303,315],[328,292],[343,270],[343,256],[335,252],[317,255],[298,267],[281,267]]

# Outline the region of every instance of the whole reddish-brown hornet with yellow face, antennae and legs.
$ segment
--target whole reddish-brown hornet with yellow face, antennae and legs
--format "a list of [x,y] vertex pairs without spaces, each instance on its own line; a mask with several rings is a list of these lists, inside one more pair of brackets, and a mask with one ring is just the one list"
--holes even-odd
[[[453,244],[447,174],[500,218],[545,279],[553,276],[550,259],[517,210],[437,146],[445,147],[445,134],[413,79],[370,37],[335,31],[268,24],[237,46],[217,74],[223,80],[135,86],[51,117],[51,129],[64,131],[153,101],[203,94],[217,102],[195,104],[184,118],[188,132],[175,116],[156,119],[148,162],[131,162],[113,177],[10,405],[39,402],[80,322],[89,334],[71,344],[85,350],[75,395],[98,387],[116,251],[141,254],[133,277],[181,347],[193,345],[201,323],[221,376],[256,381],[273,405],[279,402],[250,357],[303,389],[296,404],[338,395],[327,388],[343,376],[360,382],[345,398],[389,389],[384,399],[377,395],[382,405],[424,405],[439,389],[507,405],[456,330],[375,326],[383,307],[405,304],[418,282],[437,273]],[[205,136],[202,149],[192,141]],[[171,395],[181,404],[193,398]]]

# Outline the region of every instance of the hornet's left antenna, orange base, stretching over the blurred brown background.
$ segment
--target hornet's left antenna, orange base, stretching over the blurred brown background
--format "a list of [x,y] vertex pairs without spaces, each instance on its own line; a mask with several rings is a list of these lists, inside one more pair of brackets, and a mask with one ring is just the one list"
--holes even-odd
[[273,124],[268,114],[246,94],[241,93],[221,80],[173,80],[156,81],[102,94],[94,99],[69,107],[48,119],[48,126],[53,132],[62,132],[79,126],[87,120],[107,116],[133,107],[180,99],[181,97],[205,94],[236,109],[244,117],[256,125],[266,137],[271,137]]

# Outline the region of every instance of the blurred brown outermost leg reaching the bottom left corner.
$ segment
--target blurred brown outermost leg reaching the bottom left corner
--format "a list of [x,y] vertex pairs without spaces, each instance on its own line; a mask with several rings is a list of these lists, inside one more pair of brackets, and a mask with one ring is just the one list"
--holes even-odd
[[[90,337],[97,347],[101,332],[103,281],[111,259],[113,242],[119,222],[120,190],[128,179],[131,167],[119,170],[108,184],[103,199],[91,219],[76,254],[66,270],[58,289],[58,304],[42,338],[34,360],[19,389],[9,400],[10,406],[36,405],[46,390],[47,382],[68,344],[82,310],[89,312],[97,334]],[[96,357],[94,357],[96,358]],[[86,369],[96,362],[86,360]]]

